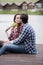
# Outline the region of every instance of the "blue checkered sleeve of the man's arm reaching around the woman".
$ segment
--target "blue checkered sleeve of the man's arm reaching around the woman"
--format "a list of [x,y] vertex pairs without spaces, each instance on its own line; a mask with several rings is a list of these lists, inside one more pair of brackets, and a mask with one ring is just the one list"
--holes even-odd
[[27,27],[24,27],[20,36],[17,39],[12,40],[11,43],[20,44],[26,38],[26,34],[27,34]]

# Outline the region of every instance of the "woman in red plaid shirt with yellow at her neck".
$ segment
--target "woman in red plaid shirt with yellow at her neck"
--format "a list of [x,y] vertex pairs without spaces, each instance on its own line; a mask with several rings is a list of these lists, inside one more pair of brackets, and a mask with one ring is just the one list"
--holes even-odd
[[[20,14],[16,14],[14,16],[13,24],[5,30],[5,32],[7,34],[7,37],[8,37],[8,41],[16,39],[19,36],[19,34],[21,33],[21,31],[22,31],[22,26],[20,27],[20,24],[16,23],[16,21],[18,21],[18,19],[19,19],[19,15]],[[9,35],[8,30],[10,28],[11,28],[11,33]],[[3,43],[6,43],[6,42],[7,41],[0,41],[0,47],[2,47]]]

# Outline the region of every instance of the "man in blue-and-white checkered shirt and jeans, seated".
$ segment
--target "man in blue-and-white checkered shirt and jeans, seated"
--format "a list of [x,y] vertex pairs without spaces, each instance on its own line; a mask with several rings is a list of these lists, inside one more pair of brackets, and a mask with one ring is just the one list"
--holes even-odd
[[36,54],[36,44],[35,44],[35,33],[33,28],[28,24],[28,15],[21,14],[19,21],[16,21],[18,24],[21,23],[22,32],[18,38],[15,40],[4,43],[3,47],[0,49],[0,55],[8,51],[16,53],[28,53]]

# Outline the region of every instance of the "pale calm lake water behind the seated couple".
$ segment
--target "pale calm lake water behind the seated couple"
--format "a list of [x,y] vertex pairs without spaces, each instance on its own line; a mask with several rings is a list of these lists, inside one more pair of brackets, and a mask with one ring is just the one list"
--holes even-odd
[[[14,15],[0,15],[0,40],[7,40],[5,29],[13,22]],[[29,15],[28,23],[36,33],[36,43],[43,44],[43,15]]]

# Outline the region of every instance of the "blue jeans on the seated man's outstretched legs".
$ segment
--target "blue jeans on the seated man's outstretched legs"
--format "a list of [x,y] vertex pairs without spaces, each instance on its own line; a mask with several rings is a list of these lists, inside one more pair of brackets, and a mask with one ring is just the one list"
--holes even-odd
[[0,55],[3,55],[6,52],[14,52],[14,53],[25,53],[24,45],[14,45],[14,44],[4,44],[2,48],[0,48]]

